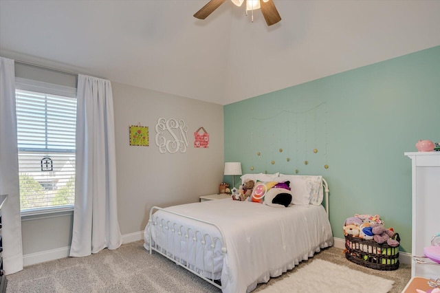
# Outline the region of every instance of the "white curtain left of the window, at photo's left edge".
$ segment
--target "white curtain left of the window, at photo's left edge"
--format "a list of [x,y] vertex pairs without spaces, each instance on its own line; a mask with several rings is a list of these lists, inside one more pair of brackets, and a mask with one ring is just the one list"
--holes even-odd
[[0,57],[0,194],[8,195],[1,208],[2,257],[6,274],[23,270],[19,190],[14,61]]

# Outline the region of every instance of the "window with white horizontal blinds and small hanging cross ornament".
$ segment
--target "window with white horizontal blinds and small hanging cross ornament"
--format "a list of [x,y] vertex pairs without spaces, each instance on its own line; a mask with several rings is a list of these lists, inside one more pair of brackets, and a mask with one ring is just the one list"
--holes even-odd
[[76,98],[72,92],[48,94],[46,87],[40,83],[39,91],[29,91],[17,85],[15,91],[22,214],[74,205]]

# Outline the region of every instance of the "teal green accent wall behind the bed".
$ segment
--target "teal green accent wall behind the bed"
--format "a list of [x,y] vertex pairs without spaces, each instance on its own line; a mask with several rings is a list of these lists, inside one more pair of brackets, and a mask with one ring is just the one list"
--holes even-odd
[[323,175],[334,237],[344,238],[347,217],[377,214],[410,252],[404,152],[440,142],[439,112],[437,46],[225,105],[225,162],[241,162],[243,173]]

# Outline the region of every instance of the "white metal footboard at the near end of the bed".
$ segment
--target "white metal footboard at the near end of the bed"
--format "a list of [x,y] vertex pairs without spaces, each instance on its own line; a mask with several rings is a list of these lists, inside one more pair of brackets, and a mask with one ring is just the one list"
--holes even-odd
[[[188,228],[175,221],[155,216],[154,213],[157,210],[161,210],[165,214],[177,215],[212,226],[218,231],[218,235],[220,236],[214,237],[206,232],[196,230],[196,228]],[[157,206],[153,206],[153,208],[150,209],[148,225],[150,237],[148,246],[150,254],[155,250],[167,259],[174,261],[177,265],[186,268],[186,270],[221,289],[221,284],[215,282],[216,278],[214,277],[214,248],[219,245],[223,257],[227,250],[225,235],[219,226]],[[176,241],[179,241],[179,243],[176,243]],[[197,246],[202,248],[201,252],[198,252]],[[210,259],[210,264],[206,264],[206,258]]]

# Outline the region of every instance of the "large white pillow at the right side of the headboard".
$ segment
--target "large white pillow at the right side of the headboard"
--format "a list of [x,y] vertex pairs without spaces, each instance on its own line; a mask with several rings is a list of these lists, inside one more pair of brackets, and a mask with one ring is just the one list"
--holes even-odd
[[324,197],[322,176],[280,174],[278,181],[290,182],[293,204],[302,206],[308,206],[309,204],[319,206],[322,204]]

